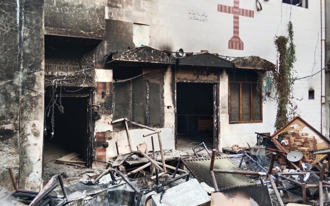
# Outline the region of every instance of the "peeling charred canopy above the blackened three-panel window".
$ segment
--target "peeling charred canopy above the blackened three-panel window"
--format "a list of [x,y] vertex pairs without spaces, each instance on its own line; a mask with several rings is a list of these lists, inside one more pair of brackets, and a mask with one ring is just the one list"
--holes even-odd
[[153,64],[175,64],[175,57],[150,46],[137,46],[131,49],[109,53],[110,61]]

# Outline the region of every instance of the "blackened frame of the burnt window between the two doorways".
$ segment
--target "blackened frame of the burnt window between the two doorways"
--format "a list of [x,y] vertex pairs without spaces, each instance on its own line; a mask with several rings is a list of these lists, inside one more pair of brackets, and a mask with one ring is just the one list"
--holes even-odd
[[[130,78],[130,79],[126,79],[125,81],[114,81],[113,82],[113,89],[114,89],[114,99],[113,99],[113,117],[114,119],[119,119],[119,118],[123,118],[120,116],[116,116],[116,98],[118,98],[118,96],[116,95],[116,84],[120,84],[123,82],[126,82],[129,84],[128,87],[128,91],[129,91],[129,106],[127,107],[127,110],[129,112],[129,117],[126,116],[126,118],[128,118],[129,120],[139,123],[139,124],[143,124],[149,127],[154,127],[154,128],[161,128],[164,126],[164,70],[163,69],[159,69],[159,68],[136,68],[137,70],[140,71],[140,75],[139,77],[134,77],[134,78]],[[150,72],[151,70],[155,70],[155,71],[159,71],[159,77],[155,77],[152,75],[152,72]],[[150,72],[150,73],[149,73]],[[147,73],[147,74],[146,74]],[[157,76],[157,75],[156,75]],[[115,79],[115,78],[114,78]],[[145,86],[145,111],[146,114],[143,117],[138,117],[138,118],[134,118],[134,109],[136,108],[136,105],[139,105],[139,103],[134,102],[134,86],[133,84],[137,83],[134,81],[141,81],[143,80],[145,82],[144,86]],[[150,97],[150,89],[152,89],[152,87],[150,88],[150,85],[152,85],[153,83],[158,82],[158,84],[160,85],[160,92],[161,92],[161,97],[160,97],[160,102],[159,102],[159,109],[160,109],[160,121],[159,123],[153,123],[150,122],[152,115],[150,115],[150,109],[151,109],[151,103],[152,99],[154,99],[152,96]],[[118,87],[118,86],[117,86]],[[127,90],[126,90],[127,91]],[[158,114],[159,115],[159,114]],[[137,121],[137,119],[141,119],[141,118],[145,118],[144,122],[141,121]],[[137,126],[134,126],[132,124],[128,125],[129,128],[137,128]],[[123,123],[116,123],[114,124],[114,129],[122,129],[123,127],[125,127],[125,125]]]

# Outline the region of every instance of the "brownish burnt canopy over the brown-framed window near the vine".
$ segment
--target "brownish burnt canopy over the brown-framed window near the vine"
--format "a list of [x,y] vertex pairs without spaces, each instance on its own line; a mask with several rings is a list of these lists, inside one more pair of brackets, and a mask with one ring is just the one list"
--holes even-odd
[[272,71],[276,69],[275,64],[258,56],[237,57],[231,62],[233,62],[235,68],[238,69],[254,69],[263,71]]

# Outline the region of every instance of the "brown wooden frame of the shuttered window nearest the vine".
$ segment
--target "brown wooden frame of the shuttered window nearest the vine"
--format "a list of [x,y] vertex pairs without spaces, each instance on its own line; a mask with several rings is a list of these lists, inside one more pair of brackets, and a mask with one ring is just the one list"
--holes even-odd
[[[263,110],[262,110],[262,95],[260,93],[261,89],[259,91],[253,91],[253,87],[255,89],[258,86],[258,74],[255,71],[234,71],[231,74],[229,74],[228,77],[228,114],[229,114],[229,124],[241,124],[241,123],[262,123],[263,122]],[[239,84],[240,86],[240,102],[239,102],[239,121],[232,121],[231,120],[231,84]],[[243,121],[243,112],[242,112],[242,84],[249,84],[250,85],[250,119],[248,121]],[[261,85],[261,84],[260,84]],[[260,110],[259,114],[261,119],[259,120],[253,120],[253,94],[258,95],[259,97],[259,103],[260,103]]]

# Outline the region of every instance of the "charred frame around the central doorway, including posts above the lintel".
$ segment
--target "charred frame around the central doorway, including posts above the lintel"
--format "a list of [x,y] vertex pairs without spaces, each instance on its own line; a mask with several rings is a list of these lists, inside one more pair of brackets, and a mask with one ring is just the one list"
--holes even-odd
[[[219,74],[217,72],[217,77]],[[175,70],[175,85],[174,85],[174,100],[175,100],[175,149],[177,149],[177,137],[178,137],[178,113],[177,113],[177,83],[209,83],[213,84],[213,147],[219,151],[219,137],[218,137],[218,102],[219,102],[219,81],[211,80],[199,80],[199,70],[196,72],[197,80],[185,80],[177,78],[177,70]],[[218,78],[219,79],[219,78]]]

